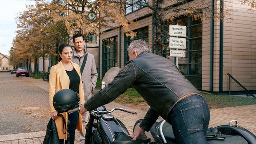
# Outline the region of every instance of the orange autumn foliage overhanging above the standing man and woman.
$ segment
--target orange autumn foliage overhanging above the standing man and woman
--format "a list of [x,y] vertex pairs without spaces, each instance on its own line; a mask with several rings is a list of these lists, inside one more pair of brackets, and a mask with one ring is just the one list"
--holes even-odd
[[[37,0],[48,5],[51,17],[54,21],[64,21],[69,34],[92,33],[98,35],[101,28],[116,28],[122,25],[126,32],[131,32],[133,21],[125,20],[124,14],[120,13],[121,4],[110,4],[101,0]],[[118,15],[117,15],[118,14]],[[120,21],[120,24],[111,23]]]

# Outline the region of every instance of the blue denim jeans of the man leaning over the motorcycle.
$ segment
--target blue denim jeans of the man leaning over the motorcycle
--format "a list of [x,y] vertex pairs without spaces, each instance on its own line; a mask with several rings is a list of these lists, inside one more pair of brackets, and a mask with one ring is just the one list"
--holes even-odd
[[167,121],[172,124],[177,144],[206,144],[210,110],[202,96],[180,100],[169,112]]

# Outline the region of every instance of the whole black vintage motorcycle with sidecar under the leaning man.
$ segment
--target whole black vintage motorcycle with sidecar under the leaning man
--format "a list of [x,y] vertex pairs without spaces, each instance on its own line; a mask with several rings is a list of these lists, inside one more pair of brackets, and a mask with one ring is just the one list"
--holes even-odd
[[[86,127],[85,144],[176,144],[172,125],[165,120],[157,120],[150,131],[145,132],[142,140],[133,141],[125,125],[112,114],[115,110],[137,114],[125,108],[113,108],[108,111],[104,106],[93,110]],[[133,133],[140,122],[141,120],[137,120],[134,124]],[[208,144],[256,144],[256,136],[238,126],[236,120],[229,121],[228,125],[208,129]]]

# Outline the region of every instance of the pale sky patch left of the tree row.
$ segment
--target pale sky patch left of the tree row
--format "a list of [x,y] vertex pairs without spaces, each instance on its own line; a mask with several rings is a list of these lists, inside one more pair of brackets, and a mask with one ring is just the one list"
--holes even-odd
[[27,10],[31,0],[0,0],[0,53],[10,56],[12,40],[16,36],[16,18],[19,12]]

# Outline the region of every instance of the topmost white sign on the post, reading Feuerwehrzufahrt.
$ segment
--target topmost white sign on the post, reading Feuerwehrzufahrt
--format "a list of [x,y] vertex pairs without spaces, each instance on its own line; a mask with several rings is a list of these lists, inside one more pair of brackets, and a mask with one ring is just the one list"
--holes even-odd
[[187,27],[183,25],[170,25],[170,36],[187,36]]

